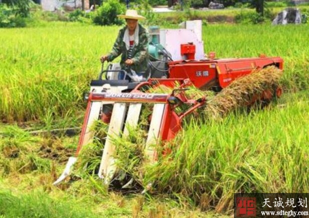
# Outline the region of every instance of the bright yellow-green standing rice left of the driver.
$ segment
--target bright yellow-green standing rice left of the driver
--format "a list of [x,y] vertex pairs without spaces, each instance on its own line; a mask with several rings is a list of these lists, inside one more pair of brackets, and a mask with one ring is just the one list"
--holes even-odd
[[82,93],[96,78],[99,57],[111,49],[118,27],[88,26],[77,37],[80,27],[67,25],[0,30],[2,120],[42,119],[47,112],[59,117],[84,108]]

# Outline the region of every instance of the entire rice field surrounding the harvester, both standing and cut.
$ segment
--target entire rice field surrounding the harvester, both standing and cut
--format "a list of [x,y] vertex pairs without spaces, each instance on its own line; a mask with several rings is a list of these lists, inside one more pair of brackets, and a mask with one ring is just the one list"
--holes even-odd
[[[148,168],[143,182],[156,181],[150,195],[107,192],[87,172],[53,186],[78,136],[27,129],[81,124],[82,93],[117,29],[79,23],[0,29],[0,216],[213,217],[230,215],[234,192],[309,191],[309,30],[268,24],[203,26],[204,47],[217,57],[281,56],[281,99],[249,114],[187,123],[170,156]],[[19,206],[25,204],[32,207]]]

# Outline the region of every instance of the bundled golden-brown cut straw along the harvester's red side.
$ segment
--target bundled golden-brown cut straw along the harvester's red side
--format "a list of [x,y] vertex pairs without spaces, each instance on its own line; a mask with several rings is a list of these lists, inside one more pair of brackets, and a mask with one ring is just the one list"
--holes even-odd
[[247,105],[254,95],[276,87],[281,75],[280,69],[268,66],[234,80],[228,87],[208,100],[204,110],[205,117],[223,117],[236,108]]

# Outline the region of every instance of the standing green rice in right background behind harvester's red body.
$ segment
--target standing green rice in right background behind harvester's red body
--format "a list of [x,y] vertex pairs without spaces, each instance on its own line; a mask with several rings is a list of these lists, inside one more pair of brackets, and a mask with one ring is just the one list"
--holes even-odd
[[285,90],[308,88],[308,41],[305,25],[207,25],[203,27],[204,50],[217,57],[253,57],[264,53],[284,60]]

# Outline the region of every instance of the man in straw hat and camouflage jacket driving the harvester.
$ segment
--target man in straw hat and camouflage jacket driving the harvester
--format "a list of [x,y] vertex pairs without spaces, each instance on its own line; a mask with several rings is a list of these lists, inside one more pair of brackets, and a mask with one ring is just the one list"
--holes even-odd
[[[122,54],[120,66],[128,72],[125,79],[146,80],[149,61],[148,32],[138,23],[138,20],[145,19],[145,17],[138,15],[136,10],[127,10],[126,14],[118,15],[118,17],[125,18],[127,25],[119,30],[111,52],[102,56],[101,61],[112,61]],[[125,73],[121,71],[118,79],[124,79],[124,76]]]

